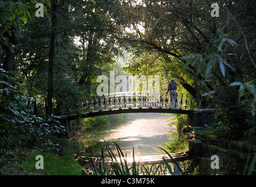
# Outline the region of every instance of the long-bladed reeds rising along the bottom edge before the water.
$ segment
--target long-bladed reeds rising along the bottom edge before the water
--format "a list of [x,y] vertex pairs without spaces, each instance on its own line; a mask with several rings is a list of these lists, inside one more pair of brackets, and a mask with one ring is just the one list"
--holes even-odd
[[[89,160],[92,175],[157,175],[157,174],[158,175],[177,175],[177,173],[175,173],[172,170],[171,165],[169,165],[169,163],[167,162],[167,160],[165,160],[164,157],[162,158],[164,164],[147,165],[147,167],[145,165],[140,166],[140,163],[135,161],[134,149],[133,149],[133,162],[132,164],[128,164],[126,154],[123,153],[123,151],[117,145],[117,143],[114,142],[117,150],[117,155],[113,153],[113,151],[109,147],[108,143],[106,143],[106,141],[104,144],[105,144],[105,148],[101,148],[101,157],[96,162],[96,164],[92,161],[92,159]],[[182,171],[182,168],[179,166],[178,162],[175,161],[174,158],[172,158],[172,156],[166,150],[164,150],[161,147],[158,147],[158,148],[163,150],[169,156],[169,158],[171,158],[175,167],[178,168],[178,171],[179,171],[178,173],[180,175],[188,175],[188,174],[185,174],[184,171]],[[108,154],[106,154],[105,152]],[[110,158],[110,160],[106,160],[105,158]],[[255,162],[256,162],[256,154],[254,155],[251,165],[248,168],[247,175],[252,174]],[[247,164],[248,164],[248,161],[247,161]],[[245,166],[245,171],[247,169],[247,164]],[[245,175],[245,171],[244,171],[244,175]],[[192,175],[193,172],[194,171],[192,171],[189,175]],[[82,169],[82,175],[90,175],[90,174],[88,174],[88,172]],[[216,175],[216,174],[213,173],[213,175]]]

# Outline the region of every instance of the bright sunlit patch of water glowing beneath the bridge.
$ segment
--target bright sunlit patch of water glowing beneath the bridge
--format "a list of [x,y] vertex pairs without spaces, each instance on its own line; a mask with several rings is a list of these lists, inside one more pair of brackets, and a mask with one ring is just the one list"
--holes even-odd
[[[168,118],[160,113],[134,113],[129,123],[108,130],[103,138],[115,141],[127,156],[132,155],[133,148],[136,156],[162,154],[157,147],[164,147],[162,143],[170,141],[169,131],[174,130],[168,126]],[[103,143],[103,139],[98,142]]]

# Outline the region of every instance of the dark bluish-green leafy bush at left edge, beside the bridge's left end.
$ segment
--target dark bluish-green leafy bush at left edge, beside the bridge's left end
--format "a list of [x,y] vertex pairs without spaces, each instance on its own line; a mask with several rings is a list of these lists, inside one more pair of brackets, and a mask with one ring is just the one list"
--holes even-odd
[[19,83],[0,69],[0,158],[12,151],[29,147],[59,150],[56,136],[63,136],[64,127],[51,117],[37,117],[26,108],[28,98],[23,96]]

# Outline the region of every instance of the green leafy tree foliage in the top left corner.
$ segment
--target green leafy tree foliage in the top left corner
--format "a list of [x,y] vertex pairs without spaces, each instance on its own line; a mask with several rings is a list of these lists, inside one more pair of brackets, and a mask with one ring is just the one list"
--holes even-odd
[[0,62],[3,61],[4,70],[8,73],[14,70],[18,39],[22,34],[21,27],[32,18],[32,7],[35,3],[35,1],[30,1],[30,4],[23,1],[0,2]]

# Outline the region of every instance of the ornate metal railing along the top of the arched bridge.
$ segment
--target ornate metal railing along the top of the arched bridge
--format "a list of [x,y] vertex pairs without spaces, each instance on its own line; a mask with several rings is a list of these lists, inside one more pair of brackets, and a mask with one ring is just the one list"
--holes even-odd
[[[158,92],[118,92],[102,96],[92,96],[83,102],[84,112],[122,108],[175,108],[195,109],[192,96],[177,94],[177,100],[172,106],[171,96],[168,93]],[[176,106],[177,105],[177,106]]]

